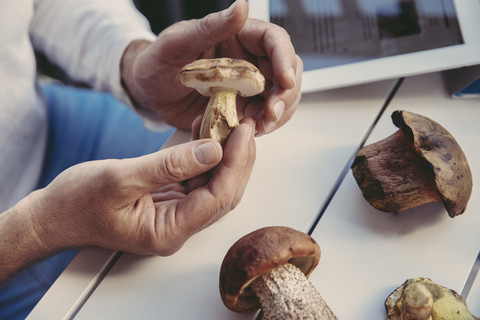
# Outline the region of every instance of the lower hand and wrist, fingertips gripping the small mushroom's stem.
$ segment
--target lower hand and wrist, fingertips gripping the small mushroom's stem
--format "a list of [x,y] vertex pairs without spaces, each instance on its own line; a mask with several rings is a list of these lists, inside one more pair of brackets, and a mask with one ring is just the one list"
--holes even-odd
[[243,121],[223,150],[195,140],[65,170],[0,215],[0,283],[70,247],[173,254],[239,203],[255,161],[253,126]]

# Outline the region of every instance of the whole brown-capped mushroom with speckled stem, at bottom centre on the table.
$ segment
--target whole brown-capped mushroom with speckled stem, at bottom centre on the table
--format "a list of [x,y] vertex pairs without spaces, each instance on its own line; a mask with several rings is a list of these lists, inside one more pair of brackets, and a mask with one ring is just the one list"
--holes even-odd
[[238,240],[220,269],[220,295],[238,313],[262,308],[269,319],[337,319],[308,281],[320,259],[309,235],[266,227]]

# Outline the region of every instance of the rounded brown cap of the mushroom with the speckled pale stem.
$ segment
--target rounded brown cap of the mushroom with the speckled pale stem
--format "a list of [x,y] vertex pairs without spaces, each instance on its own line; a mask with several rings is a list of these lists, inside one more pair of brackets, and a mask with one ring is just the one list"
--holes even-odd
[[220,295],[227,308],[244,313],[260,308],[250,284],[287,262],[308,277],[318,265],[320,247],[306,233],[288,227],[253,231],[228,250],[220,268]]

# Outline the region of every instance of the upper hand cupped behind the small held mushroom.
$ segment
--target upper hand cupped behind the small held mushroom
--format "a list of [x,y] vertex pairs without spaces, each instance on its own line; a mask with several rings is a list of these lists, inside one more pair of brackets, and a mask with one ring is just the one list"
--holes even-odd
[[237,100],[239,118],[255,119],[258,135],[282,126],[297,109],[303,64],[283,28],[247,16],[246,1],[238,0],[225,11],[172,25],[152,44],[133,42],[121,66],[132,100],[173,126],[190,128],[208,98],[180,83],[181,68],[200,58],[244,59],[258,66],[266,90]]

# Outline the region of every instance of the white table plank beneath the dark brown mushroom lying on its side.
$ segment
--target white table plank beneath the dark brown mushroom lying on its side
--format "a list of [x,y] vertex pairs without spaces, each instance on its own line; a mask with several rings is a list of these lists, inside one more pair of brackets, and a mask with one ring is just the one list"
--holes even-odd
[[[480,249],[479,100],[450,99],[439,74],[407,78],[366,144],[398,130],[390,115],[399,109],[450,131],[470,163],[474,189],[454,219],[441,203],[389,214],[369,205],[350,171],[312,235],[323,259],[311,281],[342,320],[385,319],[385,298],[408,278],[428,277],[461,293]],[[477,315],[478,298],[469,299]]]

